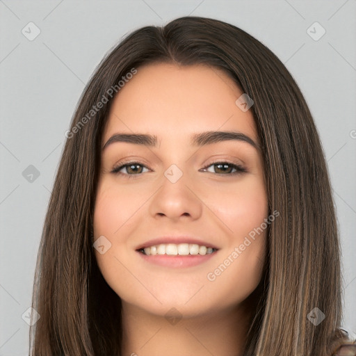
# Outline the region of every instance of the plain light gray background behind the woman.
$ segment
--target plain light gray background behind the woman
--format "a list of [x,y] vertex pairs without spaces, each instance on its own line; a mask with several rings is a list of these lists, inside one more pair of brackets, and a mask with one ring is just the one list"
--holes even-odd
[[[330,169],[343,249],[344,327],[356,331],[356,1],[0,0],[0,356],[27,355],[33,273],[72,113],[95,66],[125,33],[197,15],[266,44],[302,90]],[[40,35],[24,31],[35,23]],[[318,22],[326,33],[314,40]],[[314,37],[321,29],[311,30]],[[34,28],[31,28],[33,35]],[[33,165],[33,181],[22,172]],[[325,276],[327,277],[327,276]],[[26,314],[26,313],[25,313]]]

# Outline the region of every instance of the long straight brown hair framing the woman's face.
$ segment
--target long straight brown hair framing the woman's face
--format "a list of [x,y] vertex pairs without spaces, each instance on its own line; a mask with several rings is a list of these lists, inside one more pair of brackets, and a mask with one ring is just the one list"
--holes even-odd
[[[120,355],[120,297],[99,272],[91,235],[100,143],[112,98],[95,115],[91,110],[110,88],[120,95],[118,82],[133,68],[159,62],[224,70],[254,101],[250,110],[264,154],[268,209],[280,218],[268,232],[266,273],[243,355],[331,355],[341,323],[339,237],[312,115],[291,74],[264,44],[236,26],[203,17],[133,31],[108,52],[83,91],[66,133],[38,252],[33,308],[40,318],[30,329],[31,355]],[[325,315],[318,325],[307,317],[313,309]]]

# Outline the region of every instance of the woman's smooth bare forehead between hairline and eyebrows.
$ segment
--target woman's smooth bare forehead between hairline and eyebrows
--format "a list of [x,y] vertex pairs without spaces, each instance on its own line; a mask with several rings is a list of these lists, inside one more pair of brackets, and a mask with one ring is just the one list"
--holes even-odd
[[251,111],[236,105],[242,94],[216,67],[170,63],[138,67],[113,99],[103,141],[117,132],[186,140],[201,131],[231,130],[258,142]]

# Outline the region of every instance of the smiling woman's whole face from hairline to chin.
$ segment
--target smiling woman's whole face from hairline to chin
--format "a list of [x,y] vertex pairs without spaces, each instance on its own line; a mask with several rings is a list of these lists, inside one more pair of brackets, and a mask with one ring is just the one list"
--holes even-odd
[[[254,119],[236,105],[242,94],[218,69],[159,63],[139,67],[115,97],[94,236],[104,245],[99,269],[124,305],[196,316],[236,307],[257,287],[268,206]],[[193,140],[207,131],[240,136]],[[122,133],[156,144],[115,138]]]

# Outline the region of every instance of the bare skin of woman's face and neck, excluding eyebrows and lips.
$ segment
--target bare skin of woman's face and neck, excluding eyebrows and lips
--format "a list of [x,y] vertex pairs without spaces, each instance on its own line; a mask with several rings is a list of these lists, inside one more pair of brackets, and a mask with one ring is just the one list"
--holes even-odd
[[[113,100],[102,146],[119,132],[150,133],[159,141],[157,147],[113,143],[102,151],[94,236],[105,236],[111,248],[95,255],[122,299],[122,355],[241,353],[266,230],[215,280],[207,274],[268,218],[263,159],[243,141],[190,144],[190,136],[202,131],[240,131],[259,143],[251,111],[235,104],[241,94],[216,68],[155,63],[139,67]],[[127,161],[142,164],[138,173],[129,167],[111,172]],[[237,163],[248,172],[232,175],[230,165],[225,171],[207,167],[211,161]],[[164,175],[172,164],[183,173],[175,184]],[[140,243],[167,234],[197,236],[219,250],[189,268],[156,266],[136,252]],[[175,325],[165,318],[172,308],[181,316]]]

